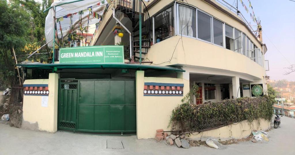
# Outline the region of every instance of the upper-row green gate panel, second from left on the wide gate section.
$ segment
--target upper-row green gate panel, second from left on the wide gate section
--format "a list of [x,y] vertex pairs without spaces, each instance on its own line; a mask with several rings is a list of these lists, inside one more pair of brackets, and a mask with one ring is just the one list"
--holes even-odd
[[110,104],[110,81],[95,81],[94,104]]

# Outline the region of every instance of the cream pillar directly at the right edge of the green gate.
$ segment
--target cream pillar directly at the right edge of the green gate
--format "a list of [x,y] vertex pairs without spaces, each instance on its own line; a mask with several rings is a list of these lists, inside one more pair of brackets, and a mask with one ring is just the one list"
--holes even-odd
[[[144,127],[145,125],[142,120],[145,119],[144,113],[142,111],[144,110],[144,106],[142,105],[142,102],[140,102],[143,99],[143,87],[145,85],[144,82],[144,75],[145,72],[141,70],[137,70],[135,73],[135,83],[136,83],[136,135],[137,138],[142,138],[142,135],[144,135],[145,130],[141,127]],[[139,112],[141,111],[141,112]],[[141,121],[140,121],[141,120]]]

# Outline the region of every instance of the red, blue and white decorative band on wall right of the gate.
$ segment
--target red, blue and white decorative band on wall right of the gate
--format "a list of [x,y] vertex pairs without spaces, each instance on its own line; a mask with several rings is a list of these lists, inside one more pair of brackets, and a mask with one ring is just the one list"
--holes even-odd
[[146,82],[143,88],[144,96],[183,96],[181,83]]

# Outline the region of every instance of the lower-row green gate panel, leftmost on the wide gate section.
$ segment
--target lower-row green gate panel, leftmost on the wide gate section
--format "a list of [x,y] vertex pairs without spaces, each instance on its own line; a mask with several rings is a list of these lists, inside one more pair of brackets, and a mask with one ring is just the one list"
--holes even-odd
[[94,130],[94,105],[79,105],[78,129]]

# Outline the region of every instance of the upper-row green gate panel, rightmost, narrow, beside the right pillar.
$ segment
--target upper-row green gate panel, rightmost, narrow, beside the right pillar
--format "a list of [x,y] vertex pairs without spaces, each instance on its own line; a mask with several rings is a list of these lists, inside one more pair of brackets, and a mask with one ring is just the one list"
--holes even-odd
[[125,85],[126,85],[126,87],[125,87],[125,104],[135,104],[136,105],[135,81],[127,81],[126,80]]

